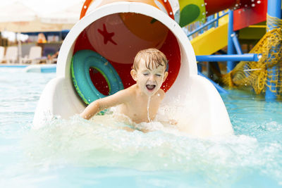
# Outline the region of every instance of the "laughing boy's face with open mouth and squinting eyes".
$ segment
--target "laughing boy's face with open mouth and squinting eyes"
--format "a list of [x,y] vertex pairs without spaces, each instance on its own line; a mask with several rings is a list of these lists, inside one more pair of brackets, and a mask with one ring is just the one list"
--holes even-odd
[[149,70],[146,67],[145,60],[141,59],[137,71],[131,70],[133,80],[137,82],[138,87],[142,92],[147,94],[147,96],[152,96],[159,91],[161,84],[166,80],[168,75],[168,73],[165,72],[165,66],[159,65],[157,68],[155,66],[152,68],[152,64],[153,63],[150,63],[151,70]]

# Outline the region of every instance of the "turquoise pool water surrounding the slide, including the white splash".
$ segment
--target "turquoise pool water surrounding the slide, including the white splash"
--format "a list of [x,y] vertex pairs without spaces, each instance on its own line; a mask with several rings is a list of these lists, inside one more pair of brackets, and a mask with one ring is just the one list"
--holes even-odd
[[282,187],[282,105],[224,95],[235,135],[126,132],[74,116],[32,130],[54,73],[0,68],[0,187]]

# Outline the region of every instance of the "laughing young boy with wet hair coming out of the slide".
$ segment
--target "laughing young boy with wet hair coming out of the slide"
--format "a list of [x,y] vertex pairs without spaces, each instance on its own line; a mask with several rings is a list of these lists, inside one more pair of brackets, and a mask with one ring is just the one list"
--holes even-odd
[[166,65],[166,56],[161,51],[157,49],[139,51],[130,71],[136,84],[93,101],[80,116],[88,120],[99,111],[118,106],[119,113],[130,118],[133,123],[149,123],[154,120],[164,99],[164,90],[160,88],[168,76]]

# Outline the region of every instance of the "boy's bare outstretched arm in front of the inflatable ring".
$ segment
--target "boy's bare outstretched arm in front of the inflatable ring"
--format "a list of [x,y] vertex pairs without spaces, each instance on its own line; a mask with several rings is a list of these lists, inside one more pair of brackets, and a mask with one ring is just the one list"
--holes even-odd
[[90,118],[92,118],[93,115],[95,115],[99,111],[103,111],[106,108],[125,103],[126,99],[128,99],[128,96],[128,89],[124,89],[119,92],[116,92],[116,94],[113,94],[111,96],[106,96],[102,99],[93,101],[90,105],[85,108],[82,113],[80,113],[80,117],[89,120]]

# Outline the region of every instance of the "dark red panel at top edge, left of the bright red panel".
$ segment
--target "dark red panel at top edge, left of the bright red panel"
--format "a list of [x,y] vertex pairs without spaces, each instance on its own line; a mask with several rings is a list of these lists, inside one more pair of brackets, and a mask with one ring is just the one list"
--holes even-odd
[[206,4],[207,16],[227,8],[232,8],[236,4],[236,0],[204,0]]

